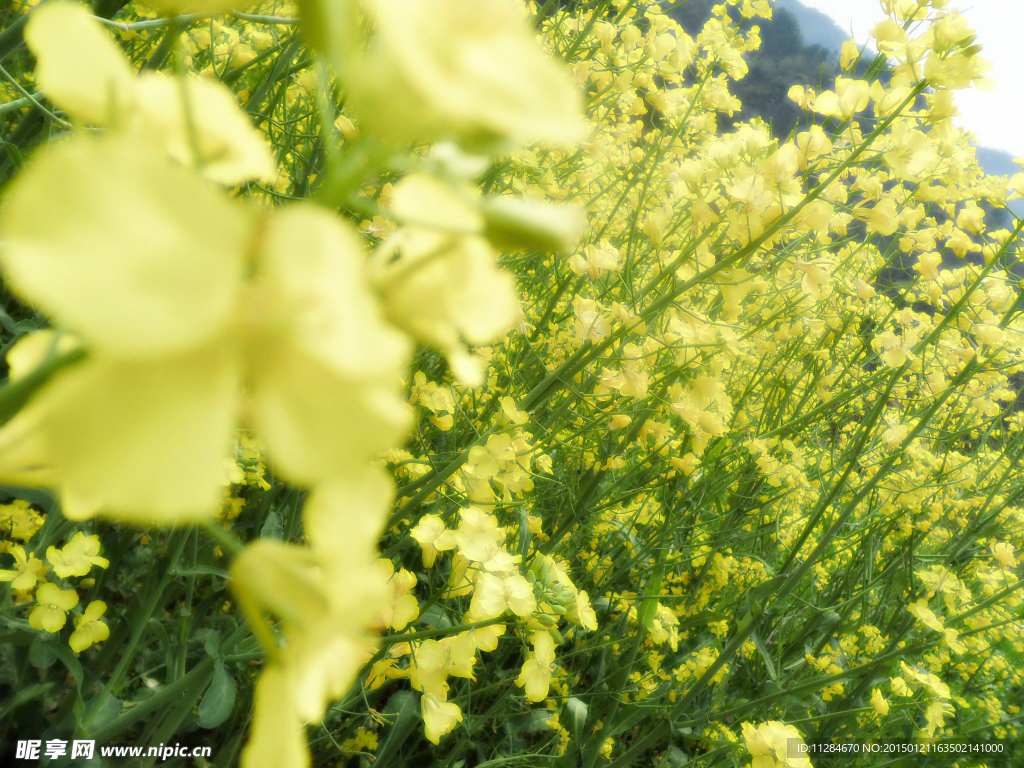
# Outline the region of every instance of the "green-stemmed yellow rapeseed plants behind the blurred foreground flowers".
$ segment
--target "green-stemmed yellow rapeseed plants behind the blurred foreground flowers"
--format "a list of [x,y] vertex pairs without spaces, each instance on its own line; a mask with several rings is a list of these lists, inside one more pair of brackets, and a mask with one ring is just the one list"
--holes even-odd
[[[1006,205],[1024,177],[986,177],[948,122],[937,93],[963,73],[908,79],[899,51],[844,71],[757,2],[531,9],[593,131],[486,160],[474,178],[495,197],[473,210],[494,236],[499,196],[558,201],[588,231],[546,253],[564,222],[503,211],[506,236],[530,238],[501,258],[522,314],[474,348],[482,386],[452,349],[416,352],[414,428],[379,462],[397,485],[381,638],[308,728],[313,764],[776,768],[807,765],[768,752],[790,737],[1020,741],[1024,294]],[[445,189],[476,200],[453,180],[471,159],[367,135],[294,8],[180,27],[100,11],[127,25],[136,69],[234,92],[281,169],[239,197],[315,199],[375,263],[410,226],[395,201],[411,178],[440,184],[418,199],[430,216],[452,212]],[[929,47],[929,25],[955,25],[928,12],[906,25],[923,50],[968,50]],[[31,91],[24,48],[7,53]],[[801,103],[794,85],[813,92]],[[6,176],[62,134],[51,106],[0,112]],[[3,299],[6,351],[48,321]],[[44,359],[0,406],[67,361]],[[83,531],[109,560],[63,580],[80,605],[63,634],[4,588],[4,744],[180,741],[239,761],[287,622],[244,621],[231,559],[302,544],[308,500],[247,432],[228,472],[216,521],[172,529],[73,522],[46,492],[0,486],[8,554],[42,559]],[[293,597],[299,612],[307,595]],[[95,601],[110,637],[76,654],[66,635]]]

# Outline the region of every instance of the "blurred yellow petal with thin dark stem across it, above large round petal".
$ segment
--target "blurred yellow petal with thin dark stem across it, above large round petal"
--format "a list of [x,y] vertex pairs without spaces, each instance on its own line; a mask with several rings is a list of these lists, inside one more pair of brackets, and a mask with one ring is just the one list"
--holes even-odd
[[[179,163],[200,167],[211,181],[233,186],[276,175],[263,137],[219,82],[143,73],[138,80],[138,102],[144,116],[142,127],[152,138]],[[196,162],[195,148],[201,163]]]

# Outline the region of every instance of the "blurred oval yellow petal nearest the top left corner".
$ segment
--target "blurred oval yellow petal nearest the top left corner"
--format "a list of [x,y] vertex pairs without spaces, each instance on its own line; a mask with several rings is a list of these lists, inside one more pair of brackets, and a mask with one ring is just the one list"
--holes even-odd
[[134,101],[128,59],[81,5],[51,2],[29,16],[25,39],[36,54],[36,81],[75,118],[108,125]]

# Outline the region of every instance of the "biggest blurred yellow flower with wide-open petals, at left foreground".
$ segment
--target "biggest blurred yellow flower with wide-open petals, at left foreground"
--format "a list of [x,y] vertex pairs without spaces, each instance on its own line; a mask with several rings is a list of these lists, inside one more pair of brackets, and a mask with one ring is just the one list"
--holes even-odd
[[406,340],[327,211],[258,219],[120,136],[56,146],[5,202],[7,284],[88,358],[0,429],[0,476],[56,487],[70,518],[212,514],[243,414],[305,484],[362,467],[404,431]]

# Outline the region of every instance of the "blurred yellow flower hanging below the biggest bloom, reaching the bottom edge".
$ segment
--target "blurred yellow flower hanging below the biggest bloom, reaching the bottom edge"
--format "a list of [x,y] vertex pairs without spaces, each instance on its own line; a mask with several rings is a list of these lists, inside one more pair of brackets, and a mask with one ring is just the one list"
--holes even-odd
[[375,471],[324,482],[303,509],[310,547],[263,539],[232,563],[231,587],[268,656],[244,768],[307,765],[303,723],[319,723],[369,658],[387,595],[374,557],[390,495]]

